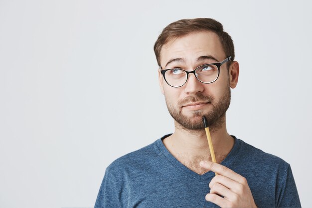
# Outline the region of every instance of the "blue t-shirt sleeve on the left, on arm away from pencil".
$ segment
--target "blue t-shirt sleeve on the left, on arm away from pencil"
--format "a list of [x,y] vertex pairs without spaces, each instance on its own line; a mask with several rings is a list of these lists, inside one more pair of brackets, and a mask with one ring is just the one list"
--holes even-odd
[[110,171],[106,169],[94,208],[122,208],[121,187]]

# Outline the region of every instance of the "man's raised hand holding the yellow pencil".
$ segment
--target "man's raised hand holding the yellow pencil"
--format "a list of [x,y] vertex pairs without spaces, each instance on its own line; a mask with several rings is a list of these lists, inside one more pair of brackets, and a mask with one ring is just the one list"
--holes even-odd
[[206,201],[221,208],[257,207],[244,177],[217,163],[201,161],[199,165],[218,174],[209,183],[210,193],[206,195]]

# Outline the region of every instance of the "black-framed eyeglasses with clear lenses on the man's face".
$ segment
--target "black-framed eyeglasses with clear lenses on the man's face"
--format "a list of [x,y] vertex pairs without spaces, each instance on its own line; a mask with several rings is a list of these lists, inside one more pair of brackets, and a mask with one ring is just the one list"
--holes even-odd
[[193,71],[185,71],[184,69],[161,69],[159,66],[160,73],[164,80],[171,87],[181,87],[188,80],[188,74],[194,74],[198,81],[209,84],[216,81],[220,74],[220,66],[231,59],[232,56],[227,57],[219,63],[209,63],[198,66]]

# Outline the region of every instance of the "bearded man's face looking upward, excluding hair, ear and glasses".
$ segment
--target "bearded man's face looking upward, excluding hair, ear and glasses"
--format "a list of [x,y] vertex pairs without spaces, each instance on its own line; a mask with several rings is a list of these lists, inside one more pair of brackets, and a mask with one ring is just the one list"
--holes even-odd
[[[160,51],[162,69],[182,68],[191,71],[200,65],[221,62],[225,58],[218,36],[206,31],[173,39],[163,45]],[[220,118],[224,118],[230,105],[229,78],[232,76],[226,64],[223,64],[219,78],[213,83],[201,83],[194,74],[189,74],[185,85],[174,88],[165,82],[159,72],[160,89],[170,115],[183,128],[192,130],[204,128],[202,116],[206,116],[210,127],[218,128],[223,124],[224,119]]]

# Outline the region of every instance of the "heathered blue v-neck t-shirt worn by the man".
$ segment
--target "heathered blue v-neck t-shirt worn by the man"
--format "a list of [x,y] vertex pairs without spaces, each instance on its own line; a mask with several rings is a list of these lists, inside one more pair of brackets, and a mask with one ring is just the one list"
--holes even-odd
[[[211,208],[208,184],[176,160],[162,139],[114,161],[105,172],[95,208]],[[301,207],[291,167],[240,139],[221,163],[247,179],[258,208]]]

